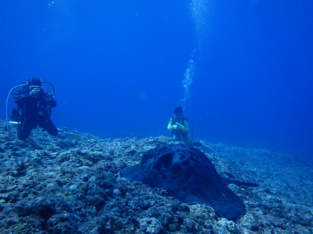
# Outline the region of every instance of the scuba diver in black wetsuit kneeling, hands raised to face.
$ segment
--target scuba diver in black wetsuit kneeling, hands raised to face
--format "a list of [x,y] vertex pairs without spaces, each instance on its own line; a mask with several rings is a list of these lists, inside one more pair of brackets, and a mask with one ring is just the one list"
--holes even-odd
[[[52,86],[47,82],[43,83]],[[22,89],[12,93],[17,109],[12,110],[11,116],[14,121],[18,122],[19,139],[27,139],[31,130],[37,126],[50,135],[57,136],[58,129],[50,119],[51,108],[57,105],[53,94],[42,88],[41,80],[37,77],[29,77],[26,84],[19,86],[23,86]]]

